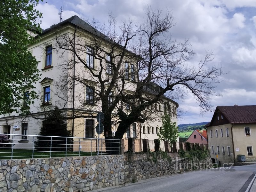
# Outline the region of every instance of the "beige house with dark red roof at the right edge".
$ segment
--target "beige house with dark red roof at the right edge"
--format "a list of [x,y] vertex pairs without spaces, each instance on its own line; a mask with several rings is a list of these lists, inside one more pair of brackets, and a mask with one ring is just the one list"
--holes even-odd
[[205,127],[212,162],[236,165],[238,155],[256,161],[256,105],[217,106]]

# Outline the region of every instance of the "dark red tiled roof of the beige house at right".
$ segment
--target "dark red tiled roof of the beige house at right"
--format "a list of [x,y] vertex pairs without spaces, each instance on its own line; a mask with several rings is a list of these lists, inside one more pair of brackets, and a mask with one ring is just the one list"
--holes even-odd
[[217,106],[218,109],[230,123],[256,123],[256,105]]

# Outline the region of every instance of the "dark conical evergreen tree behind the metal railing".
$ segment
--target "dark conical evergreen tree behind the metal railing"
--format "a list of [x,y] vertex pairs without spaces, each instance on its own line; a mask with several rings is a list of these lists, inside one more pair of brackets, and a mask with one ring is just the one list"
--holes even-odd
[[[72,147],[72,138],[62,138],[72,137],[72,134],[67,130],[67,123],[57,107],[49,114],[46,121],[43,121],[38,135],[35,141],[37,151],[49,151],[51,147],[52,151],[65,151]],[[44,136],[59,136],[60,138],[52,137],[51,142],[51,137]]]

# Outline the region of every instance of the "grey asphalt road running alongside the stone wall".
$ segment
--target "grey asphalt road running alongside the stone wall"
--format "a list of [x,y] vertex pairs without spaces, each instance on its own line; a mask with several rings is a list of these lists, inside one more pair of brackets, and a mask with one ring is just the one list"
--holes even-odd
[[[256,165],[185,172],[92,192],[256,192]],[[249,187],[248,187],[249,186]]]

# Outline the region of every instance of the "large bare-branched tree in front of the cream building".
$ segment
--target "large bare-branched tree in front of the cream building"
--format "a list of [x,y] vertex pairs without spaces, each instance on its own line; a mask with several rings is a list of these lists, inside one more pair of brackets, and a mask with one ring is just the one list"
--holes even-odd
[[[187,39],[177,42],[170,35],[171,12],[148,7],[145,13],[141,25],[129,20],[118,28],[110,14],[103,27],[95,20],[90,25],[81,21],[73,34],[57,26],[53,49],[61,53],[62,74],[54,93],[60,98],[59,108],[74,102],[67,119],[96,117],[95,112],[102,111],[105,138],[113,138],[115,119],[114,138],[121,139],[132,123],[161,119],[160,113],[155,116],[155,105],[166,97],[182,100],[192,93],[202,110],[211,109],[210,98],[217,94],[214,89],[223,74],[221,68],[206,66],[212,53],[206,52],[197,66],[188,65],[195,53]],[[65,52],[72,57],[66,58]]]

